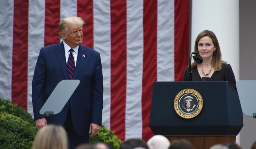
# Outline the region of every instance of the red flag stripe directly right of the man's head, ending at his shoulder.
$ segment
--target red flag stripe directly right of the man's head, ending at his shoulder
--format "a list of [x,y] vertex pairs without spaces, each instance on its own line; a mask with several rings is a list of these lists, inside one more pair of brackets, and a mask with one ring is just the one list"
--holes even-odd
[[93,48],[93,0],[78,0],[77,16],[82,17],[86,22],[83,25],[82,44]]

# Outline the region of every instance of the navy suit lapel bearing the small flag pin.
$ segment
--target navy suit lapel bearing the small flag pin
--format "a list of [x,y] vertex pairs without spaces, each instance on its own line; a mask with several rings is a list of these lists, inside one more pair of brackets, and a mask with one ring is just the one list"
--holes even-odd
[[82,46],[78,48],[78,55],[76,60],[76,70],[73,79],[76,79],[83,67],[84,61],[86,60],[87,52]]

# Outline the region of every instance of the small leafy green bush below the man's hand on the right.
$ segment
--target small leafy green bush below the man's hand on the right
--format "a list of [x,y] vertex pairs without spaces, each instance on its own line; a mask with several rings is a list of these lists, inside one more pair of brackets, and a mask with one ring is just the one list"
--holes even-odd
[[105,126],[101,126],[98,134],[90,138],[90,144],[95,142],[105,142],[106,144],[109,144],[112,149],[119,149],[122,143],[120,139],[117,139],[114,132],[110,131]]

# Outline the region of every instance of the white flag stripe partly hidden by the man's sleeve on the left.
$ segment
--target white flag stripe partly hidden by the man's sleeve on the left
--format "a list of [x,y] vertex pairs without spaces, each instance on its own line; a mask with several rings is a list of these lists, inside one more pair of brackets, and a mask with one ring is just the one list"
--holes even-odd
[[33,116],[32,79],[39,51],[44,47],[45,1],[29,1],[27,112]]

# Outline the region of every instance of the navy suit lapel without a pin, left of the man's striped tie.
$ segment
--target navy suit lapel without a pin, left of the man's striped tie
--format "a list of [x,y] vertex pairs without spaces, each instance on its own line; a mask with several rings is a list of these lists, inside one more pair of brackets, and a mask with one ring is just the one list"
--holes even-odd
[[59,44],[59,47],[57,47],[55,52],[56,52],[56,56],[59,61],[61,70],[63,72],[63,75],[65,76],[65,79],[68,79],[68,71],[67,71],[68,68],[67,68],[67,61],[66,61],[63,41]]

